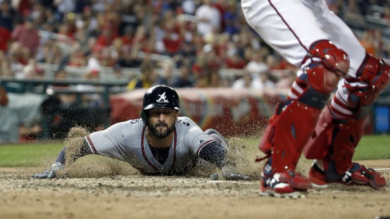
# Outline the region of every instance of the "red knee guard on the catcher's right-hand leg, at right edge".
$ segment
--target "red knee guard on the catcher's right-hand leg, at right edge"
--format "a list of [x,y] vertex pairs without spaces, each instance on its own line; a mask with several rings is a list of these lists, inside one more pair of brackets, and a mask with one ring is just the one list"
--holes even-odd
[[[389,64],[366,53],[356,78],[346,77],[345,87],[351,92],[348,101],[369,106],[386,89],[390,81]],[[365,82],[365,86],[357,82]]]

